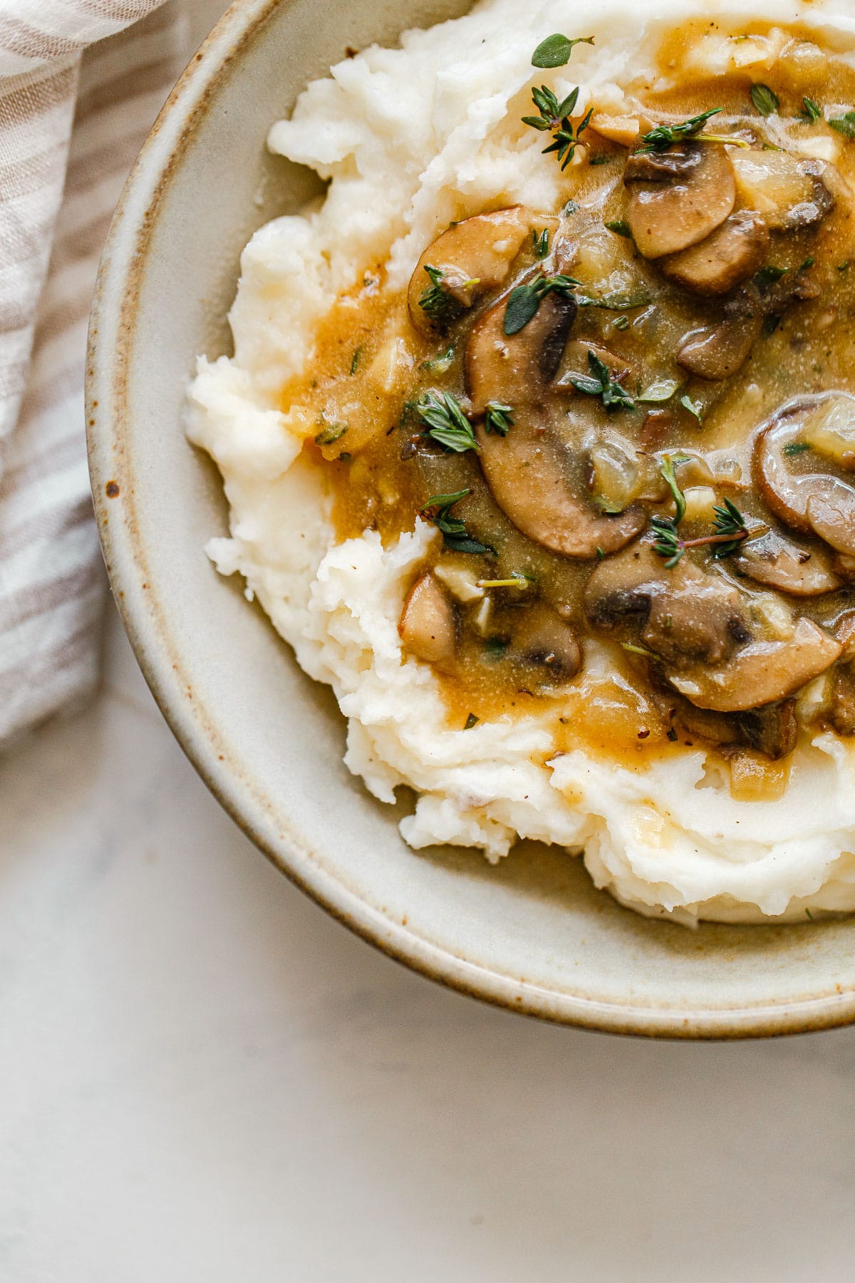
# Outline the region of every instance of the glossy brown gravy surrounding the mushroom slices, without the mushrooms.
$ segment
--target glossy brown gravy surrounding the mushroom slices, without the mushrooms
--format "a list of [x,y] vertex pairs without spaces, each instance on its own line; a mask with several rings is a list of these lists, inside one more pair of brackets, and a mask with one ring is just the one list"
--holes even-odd
[[[679,65],[706,31],[708,24],[699,23],[672,37],[663,46],[661,68]],[[645,514],[635,543],[646,540],[650,547],[654,535],[650,518],[659,514],[673,520],[676,513],[672,493],[663,481],[663,461],[687,455],[688,461],[676,468],[678,486],[688,498],[678,536],[682,540],[709,536],[715,529],[711,503],[720,507],[726,497],[736,504],[751,536],[737,541],[743,547],[736,547],[720,561],[713,561],[715,545],[709,544],[681,554],[683,570],[691,565],[737,593],[745,635],[736,627],[727,644],[738,652],[751,640],[774,643],[792,636],[795,622],[805,618],[842,647],[822,679],[810,679],[811,692],[824,681],[824,694],[819,692],[813,704],[804,698],[808,681],[805,688],[787,692],[782,701],[767,701],[763,708],[787,704],[784,720],[792,721],[795,709],[802,730],[831,724],[849,733],[845,715],[834,703],[842,698],[836,692],[845,688],[847,675],[843,672],[838,679],[834,674],[849,665],[850,634],[855,634],[855,624],[850,625],[850,618],[855,620],[855,574],[846,554],[841,556],[840,548],[820,539],[813,527],[793,527],[770,509],[758,484],[755,441],[759,426],[793,398],[828,390],[855,394],[855,141],[832,130],[823,118],[811,121],[809,112],[805,115],[804,101],[820,104],[824,117],[845,115],[855,105],[855,74],[827,59],[806,37],[800,44],[799,33],[793,33],[779,62],[764,73],[764,87],[773,91],[779,104],[768,115],[756,109],[746,74],[708,80],[693,76],[691,85],[660,94],[649,85],[628,89],[637,103],[635,114],[642,132],[660,122],[679,122],[720,108],[706,122],[705,131],[749,144],[738,148],[688,139],[678,142],[673,154],[682,145],[688,151],[719,149],[735,162],[747,155],[755,155],[759,163],[773,155],[804,162],[811,159],[811,149],[822,151],[823,142],[834,145],[831,168],[822,157],[817,157],[815,166],[826,173],[831,208],[804,223],[795,217],[790,219],[792,226],[770,230],[756,271],[724,294],[709,296],[685,287],[664,275],[659,259],[646,259],[638,253],[627,223],[632,186],[624,182],[627,158],[638,150],[638,142],[626,146],[595,131],[595,117],[582,135],[588,144],[582,163],[564,171],[558,208],[526,210],[526,237],[497,287],[477,298],[447,326],[417,327],[406,294],[390,293],[383,268],[369,264],[363,278],[338,298],[322,321],[306,372],[282,390],[283,409],[296,409],[310,425],[305,452],[322,470],[333,497],[340,540],[370,529],[390,544],[403,531],[413,530],[417,514],[432,497],[469,491],[450,508],[447,517],[461,521],[467,538],[488,550],[456,550],[447,540],[437,539],[419,572],[440,574],[436,582],[455,617],[454,661],[435,665],[449,726],[463,727],[478,720],[537,709],[554,720],[556,751],[583,745],[597,754],[643,765],[651,753],[702,743],[722,753],[737,795],[772,795],[786,780],[792,727],[781,733],[783,740],[778,731],[777,739],[776,734],[769,738],[765,730],[752,731],[747,726],[746,718],[755,716],[756,709],[722,712],[700,706],[696,715],[697,706],[676,693],[670,677],[682,672],[681,663],[687,672],[695,671],[692,665],[715,667],[718,661],[709,658],[709,650],[700,659],[697,654],[688,658],[678,654],[674,659],[672,653],[670,662],[667,647],[665,652],[654,650],[641,640],[643,612],[640,616],[632,607],[620,616],[619,602],[614,609],[609,607],[611,615],[604,608],[596,622],[596,609],[590,595],[587,600],[585,595],[591,576],[613,557],[628,556],[633,540],[615,554],[594,550],[591,557],[569,557],[529,538],[496,502],[485,477],[483,450],[456,453],[427,432],[428,425],[419,414],[426,394],[435,399],[450,394],[473,421],[479,418],[477,409],[472,412],[472,377],[465,362],[481,318],[497,300],[506,300],[520,282],[563,273],[574,282],[574,298],[587,302],[576,312],[544,396],[551,407],[549,413],[581,416],[582,426],[577,438],[570,436],[570,445],[577,450],[574,458],[578,455],[579,485],[587,486],[586,502],[597,516],[602,513],[604,498],[596,491],[597,470],[592,464],[596,450],[592,454],[591,443],[608,445],[606,480],[609,450],[617,449],[620,455],[620,443],[626,443],[633,461],[629,472],[633,468],[637,472],[641,462],[646,476],[646,489],[643,481],[637,482],[632,497]],[[650,185],[646,190],[651,190]],[[751,205],[737,191],[736,209],[746,208]],[[779,221],[779,212],[773,210],[769,218]],[[544,234],[549,249],[540,258]],[[751,299],[746,304],[741,291],[750,293],[752,282],[760,282],[756,287],[765,291],[761,321],[756,319],[756,308],[755,314],[745,318],[746,307],[750,310],[754,304]],[[422,284],[429,286],[427,276]],[[682,366],[677,355],[687,335],[720,325],[728,304],[736,325],[754,326],[756,337],[733,372],[702,377]],[[610,375],[631,398],[631,408],[606,408],[601,398],[574,390],[569,384],[572,377],[590,378],[588,352],[606,355]],[[669,385],[674,387],[665,395]],[[500,395],[496,399],[501,402]],[[513,434],[523,431],[519,409],[511,407],[511,412],[514,422],[508,435],[483,440],[485,449],[510,446]],[[527,414],[522,414],[526,422]],[[799,431],[793,429],[793,440],[788,443],[799,449],[784,445],[786,453],[781,455],[793,477],[817,468],[817,449],[805,444]],[[810,427],[808,435],[813,431]],[[852,432],[855,450],[855,416]],[[834,458],[820,458],[822,468],[841,485],[847,484],[850,468],[845,454],[838,450]],[[523,464],[519,485],[524,484]],[[619,503],[615,508],[608,500],[606,494],[605,511],[614,517],[620,511]],[[631,500],[624,495],[619,502],[626,511]],[[428,518],[436,516],[436,504],[427,508]],[[752,579],[741,554],[760,538],[758,530],[795,540],[801,553],[806,548],[817,563],[833,563],[832,586],[805,597]],[[665,570],[661,557],[656,565],[661,576],[677,570]],[[488,586],[479,586],[485,584]],[[533,616],[529,615],[528,624],[524,617],[535,608],[547,608],[552,612],[550,618],[570,629],[583,657],[578,671],[570,674],[567,665],[561,668],[560,657],[550,659],[549,647],[549,653],[544,653],[544,647],[540,652],[536,647],[526,650],[514,642],[527,629],[532,633]],[[781,721],[783,715],[776,716]],[[755,721],[763,717],[756,715]]]

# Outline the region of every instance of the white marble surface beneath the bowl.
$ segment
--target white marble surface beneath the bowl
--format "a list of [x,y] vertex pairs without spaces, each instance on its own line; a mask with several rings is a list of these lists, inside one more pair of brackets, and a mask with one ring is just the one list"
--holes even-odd
[[113,612],[97,704],[0,760],[1,1283],[851,1279],[854,1051],[410,975],[220,812]]

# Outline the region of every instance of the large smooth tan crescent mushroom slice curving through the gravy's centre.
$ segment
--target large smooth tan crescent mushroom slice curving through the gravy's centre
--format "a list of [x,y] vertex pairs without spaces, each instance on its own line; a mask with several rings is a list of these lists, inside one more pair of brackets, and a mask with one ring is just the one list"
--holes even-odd
[[523,408],[508,436],[476,427],[479,463],[494,499],[518,530],[564,557],[608,556],[643,530],[643,508],[633,504],[605,516],[590,503],[579,452],[563,444],[555,426]]

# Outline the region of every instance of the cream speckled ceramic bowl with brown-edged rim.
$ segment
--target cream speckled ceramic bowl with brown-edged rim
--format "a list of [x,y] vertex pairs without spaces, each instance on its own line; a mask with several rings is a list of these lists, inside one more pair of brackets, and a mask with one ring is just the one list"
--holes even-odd
[[690,931],[620,908],[558,849],[523,843],[497,867],[472,851],[410,851],[400,813],[342,766],[331,693],[203,552],[226,530],[226,504],[182,432],[194,358],[228,349],[251,232],[317,190],[265,155],[267,130],[347,46],[394,42],[465,8],[244,0],[169,98],[113,221],[91,322],[92,490],[128,635],[237,824],[331,913],[415,970],[611,1032],[731,1038],[854,1020],[855,920]]

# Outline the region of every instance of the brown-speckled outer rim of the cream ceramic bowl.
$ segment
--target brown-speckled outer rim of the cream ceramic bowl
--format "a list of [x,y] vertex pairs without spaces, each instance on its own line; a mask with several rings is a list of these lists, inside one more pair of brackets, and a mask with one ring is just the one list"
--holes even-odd
[[[274,9],[291,0],[235,0],[194,55],[162,108],[127,178],[105,241],[94,294],[86,362],[86,436],[101,549],[122,622],[149,688],[203,781],[256,847],[333,917],[411,970],[469,997],[559,1024],[602,1033],[728,1039],[829,1029],[855,1021],[855,993],[826,985],[810,997],[695,1011],[601,1002],[513,979],[459,957],[413,928],[391,921],[337,880],[294,829],[265,828],[237,786],[240,767],[194,702],[191,674],[172,650],[167,620],[145,581],[145,548],[135,520],[133,486],[109,494],[132,435],[127,371],[136,325],[137,282],[158,208],[188,148],[223,69]],[[124,473],[122,473],[124,477]]]

